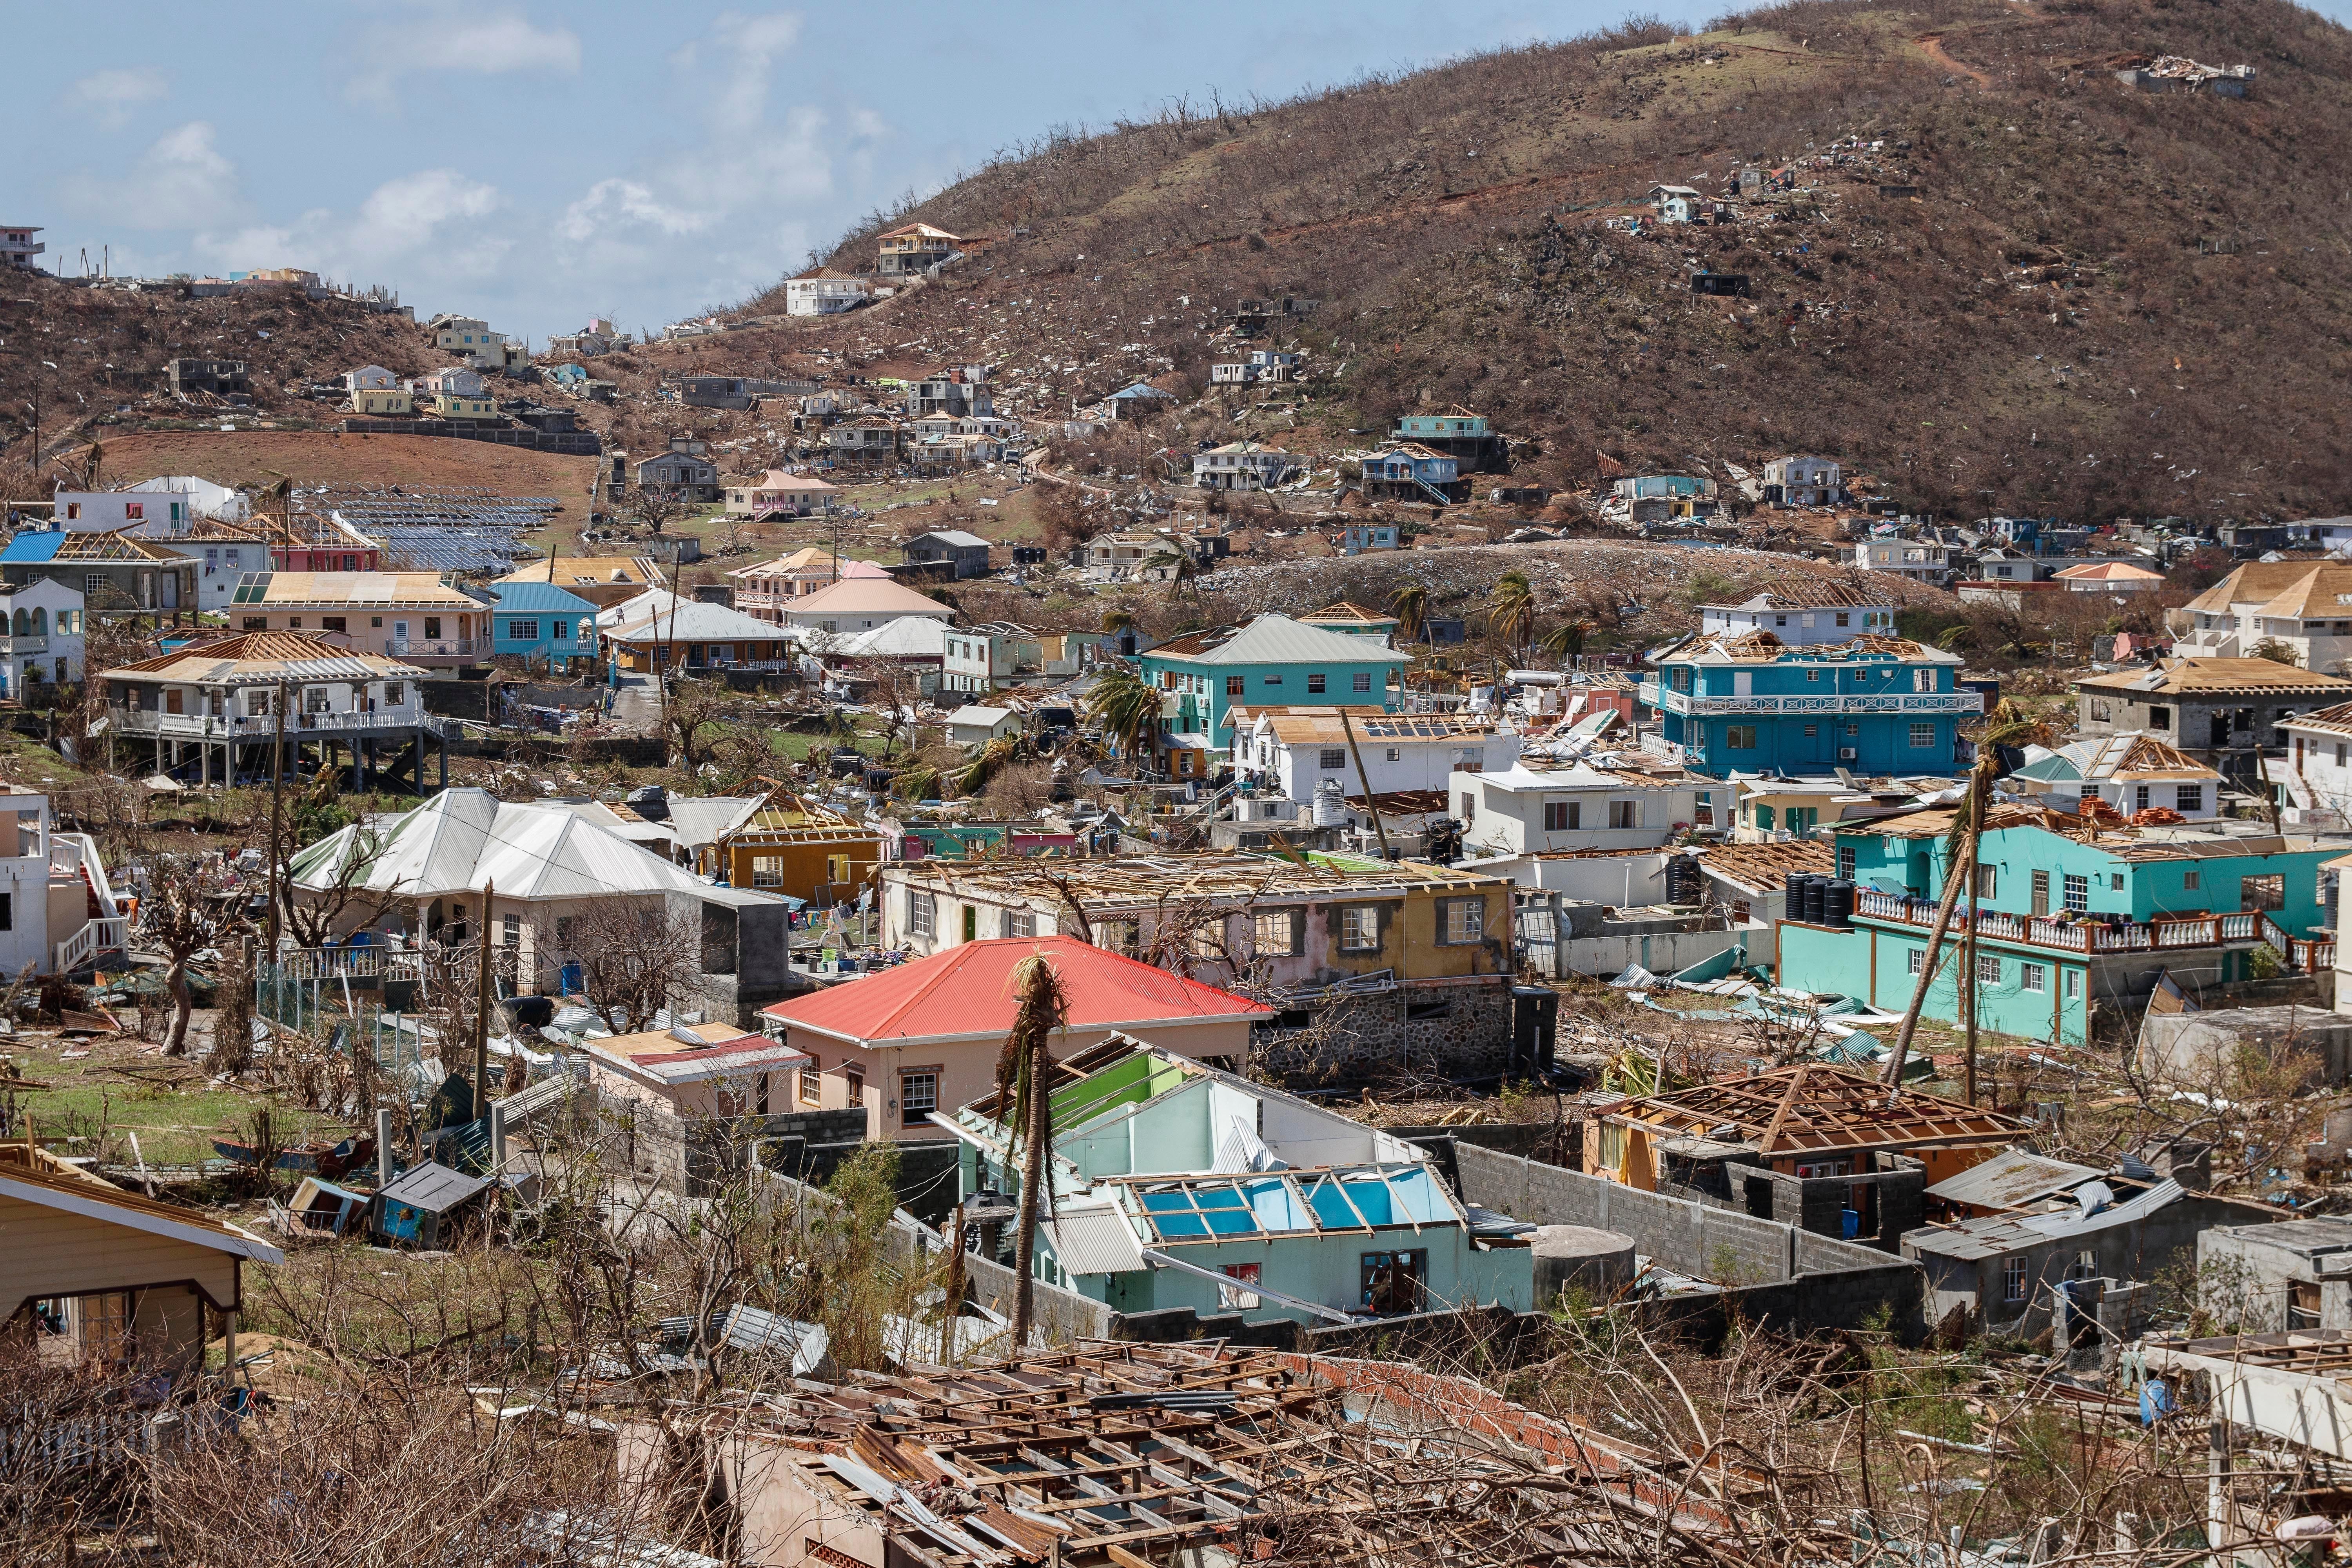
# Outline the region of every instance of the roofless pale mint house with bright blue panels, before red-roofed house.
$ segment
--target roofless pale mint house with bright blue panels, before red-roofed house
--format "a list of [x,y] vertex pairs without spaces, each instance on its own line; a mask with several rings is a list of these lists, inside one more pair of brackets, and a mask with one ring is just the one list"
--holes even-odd
[[[1392,1133],[1127,1034],[1063,1058],[1051,1081],[1047,1284],[1117,1312],[1312,1326],[1536,1305],[1534,1225],[1472,1220]],[[931,1117],[962,1143],[967,1204],[1018,1201],[1021,1159],[997,1117],[995,1095]]]

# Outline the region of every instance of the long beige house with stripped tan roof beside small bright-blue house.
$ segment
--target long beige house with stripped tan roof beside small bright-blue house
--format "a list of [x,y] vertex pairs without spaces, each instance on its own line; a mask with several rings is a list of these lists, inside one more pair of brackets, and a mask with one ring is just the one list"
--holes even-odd
[[489,607],[433,571],[247,571],[228,616],[240,632],[301,632],[440,679],[489,656]]

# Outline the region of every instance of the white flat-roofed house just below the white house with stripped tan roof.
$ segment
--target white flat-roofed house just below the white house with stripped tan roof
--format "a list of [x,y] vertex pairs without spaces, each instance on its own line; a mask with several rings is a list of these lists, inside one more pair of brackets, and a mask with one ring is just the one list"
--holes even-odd
[[[1531,856],[1559,849],[1646,849],[1698,820],[1691,773],[1576,762],[1534,771],[1463,773],[1454,780],[1454,820],[1465,856]],[[1719,785],[1712,785],[1719,788]]]

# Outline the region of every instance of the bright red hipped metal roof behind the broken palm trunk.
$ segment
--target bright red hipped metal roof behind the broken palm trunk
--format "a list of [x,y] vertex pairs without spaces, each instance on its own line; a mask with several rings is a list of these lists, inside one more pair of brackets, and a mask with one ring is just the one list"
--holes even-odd
[[1251,1018],[1261,1001],[1185,980],[1164,969],[1089,947],[1075,936],[1009,936],[962,943],[811,997],[762,1009],[795,1030],[835,1039],[908,1041],[1007,1034],[1014,1027],[1014,964],[1047,954],[1070,994],[1070,1027]]

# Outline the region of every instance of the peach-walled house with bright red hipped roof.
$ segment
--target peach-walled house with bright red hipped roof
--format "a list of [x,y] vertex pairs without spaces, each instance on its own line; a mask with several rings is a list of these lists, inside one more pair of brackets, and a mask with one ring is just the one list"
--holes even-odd
[[1249,1025],[1272,1009],[1249,997],[1138,964],[1075,936],[1011,936],[960,943],[915,964],[762,1009],[769,1037],[809,1060],[797,1105],[866,1107],[868,1138],[943,1138],[934,1110],[955,1110],[995,1086],[997,1053],[1014,1027],[1014,966],[1042,952],[1070,997],[1054,1039],[1063,1058],[1112,1034],[1178,1056],[1240,1067]]

